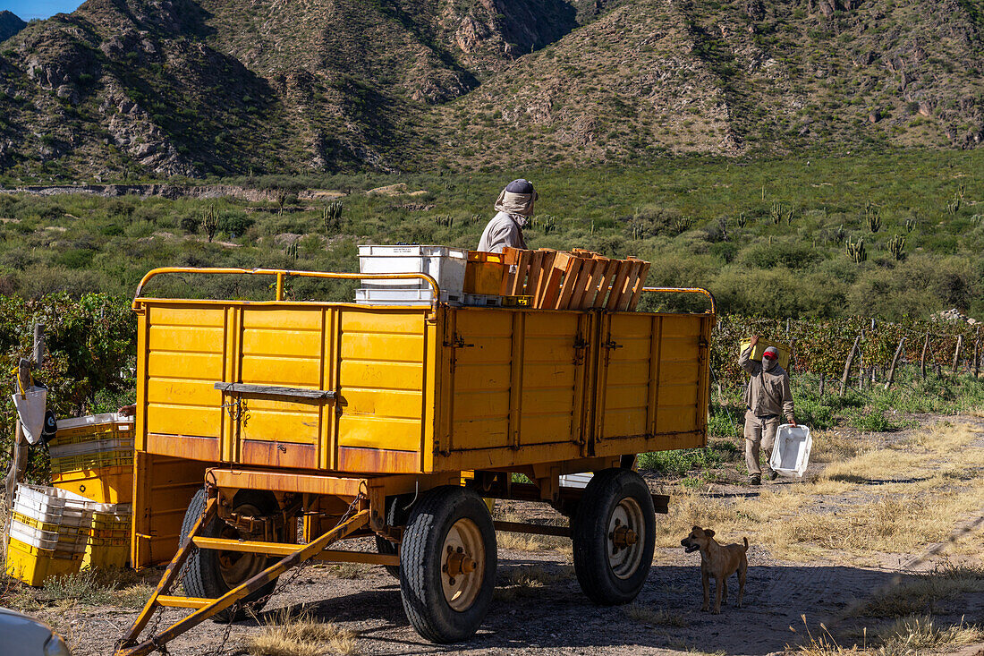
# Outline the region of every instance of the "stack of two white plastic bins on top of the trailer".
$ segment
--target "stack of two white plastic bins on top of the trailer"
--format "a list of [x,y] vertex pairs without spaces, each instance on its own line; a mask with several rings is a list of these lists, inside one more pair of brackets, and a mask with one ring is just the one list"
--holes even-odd
[[[423,273],[437,281],[441,302],[460,303],[468,251],[450,246],[359,246],[359,273]],[[363,279],[355,302],[367,305],[429,305],[431,286],[424,280]]]

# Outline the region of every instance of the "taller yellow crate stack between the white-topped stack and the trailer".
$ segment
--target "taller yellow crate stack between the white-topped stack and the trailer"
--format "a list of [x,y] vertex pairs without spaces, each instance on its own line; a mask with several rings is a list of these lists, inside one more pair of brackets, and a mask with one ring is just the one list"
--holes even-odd
[[98,503],[133,500],[132,418],[116,413],[59,420],[51,452],[51,482]]

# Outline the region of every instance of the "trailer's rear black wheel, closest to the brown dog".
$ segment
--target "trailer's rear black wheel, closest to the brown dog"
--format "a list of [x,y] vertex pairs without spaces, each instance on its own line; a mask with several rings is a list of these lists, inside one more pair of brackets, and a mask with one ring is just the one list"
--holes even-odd
[[655,522],[643,477],[625,469],[594,475],[573,526],[574,570],[588,599],[614,606],[636,598],[652,565]]

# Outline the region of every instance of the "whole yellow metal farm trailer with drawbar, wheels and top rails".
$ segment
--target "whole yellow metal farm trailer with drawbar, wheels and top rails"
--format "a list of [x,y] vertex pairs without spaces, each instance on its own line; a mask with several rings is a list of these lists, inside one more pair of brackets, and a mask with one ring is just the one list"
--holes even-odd
[[[277,298],[143,297],[165,273],[276,276]],[[177,551],[117,656],[262,606],[311,558],[385,565],[413,627],[460,641],[492,600],[497,529],[571,537],[595,603],[638,595],[667,497],[636,454],[707,441],[707,291],[646,289],[707,295],[706,313],[378,306],[285,300],[289,277],[417,279],[441,297],[425,274],[147,274],[134,562]],[[586,488],[562,485],[581,472]],[[490,498],[549,503],[570,528],[493,521]],[[333,549],[370,536],[374,553]],[[192,612],[142,638],[161,607]]]

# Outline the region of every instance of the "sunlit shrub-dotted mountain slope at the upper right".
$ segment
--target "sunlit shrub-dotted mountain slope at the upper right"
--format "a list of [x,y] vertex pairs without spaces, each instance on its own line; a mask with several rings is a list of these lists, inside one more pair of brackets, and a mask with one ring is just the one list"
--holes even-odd
[[848,4],[623,5],[442,107],[425,131],[465,165],[979,145],[972,3]]

